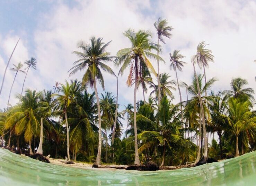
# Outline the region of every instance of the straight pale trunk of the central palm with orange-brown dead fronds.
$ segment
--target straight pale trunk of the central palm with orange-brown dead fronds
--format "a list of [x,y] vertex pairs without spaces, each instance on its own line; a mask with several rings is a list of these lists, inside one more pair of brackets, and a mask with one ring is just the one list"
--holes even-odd
[[[159,69],[158,69],[159,70]],[[137,91],[137,81],[138,81],[138,58],[135,58],[135,83],[134,83],[134,97],[133,97],[133,122],[134,122],[134,151],[135,151],[135,165],[140,165],[139,153],[138,153],[138,137],[137,137],[137,123],[136,123],[136,91]]]

